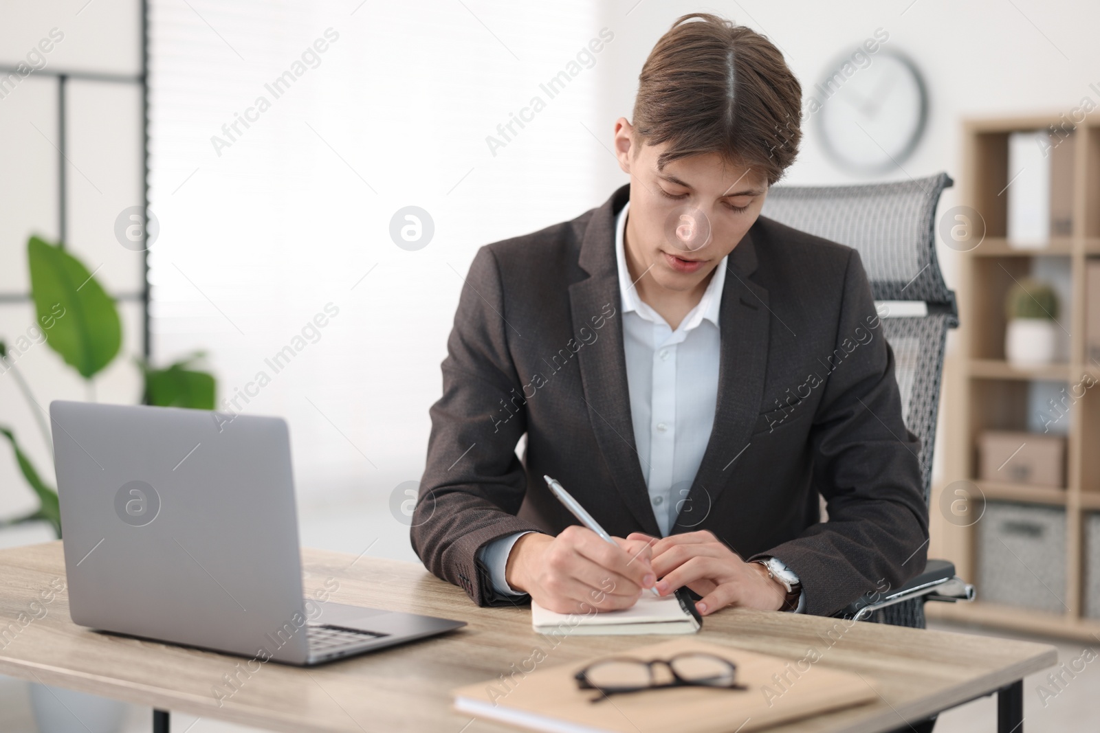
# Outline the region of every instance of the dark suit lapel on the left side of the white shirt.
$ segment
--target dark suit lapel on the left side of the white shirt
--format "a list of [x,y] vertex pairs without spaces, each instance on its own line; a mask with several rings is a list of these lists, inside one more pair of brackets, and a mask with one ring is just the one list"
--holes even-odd
[[602,313],[605,304],[615,307],[615,315],[607,319],[602,337],[576,353],[584,401],[596,443],[610,467],[619,497],[644,532],[660,536],[635,444],[623,346],[615,218],[628,198],[629,186],[619,188],[588,221],[578,260],[588,277],[570,286],[569,298],[574,334],[582,327],[591,331],[592,316]]

